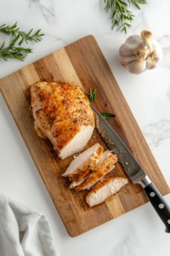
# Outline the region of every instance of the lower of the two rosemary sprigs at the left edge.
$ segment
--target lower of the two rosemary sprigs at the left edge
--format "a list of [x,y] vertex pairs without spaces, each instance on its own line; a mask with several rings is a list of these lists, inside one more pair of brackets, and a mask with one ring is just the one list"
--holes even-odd
[[5,42],[3,42],[2,46],[0,47],[0,58],[2,58],[4,61],[8,61],[8,59],[18,59],[20,61],[25,60],[26,55],[31,53],[32,49],[15,47],[14,44],[19,38],[20,38],[20,35],[18,35],[16,38],[11,40],[11,42],[8,44],[8,47],[6,48],[4,48]]

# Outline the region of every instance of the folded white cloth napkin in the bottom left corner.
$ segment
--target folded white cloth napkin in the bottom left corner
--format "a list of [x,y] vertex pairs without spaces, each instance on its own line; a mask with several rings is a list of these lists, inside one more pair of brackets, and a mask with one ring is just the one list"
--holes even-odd
[[0,256],[59,256],[47,218],[2,192]]

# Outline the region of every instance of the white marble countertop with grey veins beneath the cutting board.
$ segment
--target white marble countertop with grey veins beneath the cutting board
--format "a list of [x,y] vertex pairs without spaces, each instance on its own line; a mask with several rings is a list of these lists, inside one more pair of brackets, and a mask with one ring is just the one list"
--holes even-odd
[[[1,25],[18,21],[24,31],[42,28],[46,34],[41,43],[29,45],[34,53],[25,62],[0,59],[0,79],[66,44],[94,35],[170,185],[170,2],[150,0],[140,11],[132,8],[136,17],[127,35],[111,30],[111,17],[103,10],[103,0],[1,0],[0,3]],[[144,29],[153,32],[164,55],[155,70],[135,76],[119,64],[118,49],[128,36],[140,34]],[[0,44],[4,38],[8,42],[9,38],[1,35]],[[14,200],[47,215],[61,256],[169,255],[170,235],[165,233],[149,203],[82,236],[68,236],[2,95],[0,124],[0,188]],[[170,204],[170,195],[166,199]]]

